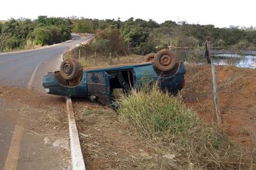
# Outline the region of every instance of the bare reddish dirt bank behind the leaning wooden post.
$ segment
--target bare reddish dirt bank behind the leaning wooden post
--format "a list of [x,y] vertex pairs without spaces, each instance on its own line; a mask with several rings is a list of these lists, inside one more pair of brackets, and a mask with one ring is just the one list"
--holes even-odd
[[[215,121],[210,65],[187,65],[185,103],[205,122]],[[256,144],[256,70],[217,66],[222,127],[242,145]]]

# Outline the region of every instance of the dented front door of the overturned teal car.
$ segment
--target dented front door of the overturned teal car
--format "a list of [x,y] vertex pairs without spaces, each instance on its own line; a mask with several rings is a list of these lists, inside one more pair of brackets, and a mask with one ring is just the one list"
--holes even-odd
[[108,73],[105,71],[87,73],[87,89],[89,96],[96,96],[103,105],[111,105],[111,91]]

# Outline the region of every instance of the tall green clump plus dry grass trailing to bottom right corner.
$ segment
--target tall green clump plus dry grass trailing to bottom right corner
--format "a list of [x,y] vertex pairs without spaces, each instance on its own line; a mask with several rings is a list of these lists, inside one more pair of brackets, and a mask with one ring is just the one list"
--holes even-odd
[[157,85],[132,90],[118,100],[120,121],[138,136],[152,141],[159,153],[175,154],[180,168],[253,169],[255,149],[230,142],[214,125],[202,122],[178,97],[163,94]]

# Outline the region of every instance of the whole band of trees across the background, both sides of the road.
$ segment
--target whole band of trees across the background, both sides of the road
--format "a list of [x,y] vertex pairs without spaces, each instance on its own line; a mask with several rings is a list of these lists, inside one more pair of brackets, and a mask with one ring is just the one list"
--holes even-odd
[[200,48],[206,40],[216,49],[256,48],[256,31],[251,28],[215,28],[174,21],[159,24],[132,17],[121,21],[40,16],[34,21],[12,19],[0,23],[0,50],[63,42],[70,38],[70,32],[96,34],[92,50],[104,54],[147,54],[162,48]]

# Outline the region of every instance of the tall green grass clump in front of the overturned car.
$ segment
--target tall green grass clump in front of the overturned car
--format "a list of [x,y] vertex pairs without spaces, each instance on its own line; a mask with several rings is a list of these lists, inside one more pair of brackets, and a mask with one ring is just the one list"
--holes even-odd
[[140,92],[133,90],[120,102],[120,115],[128,118],[143,136],[187,133],[201,123],[195,113],[169,94],[162,94],[157,86]]

